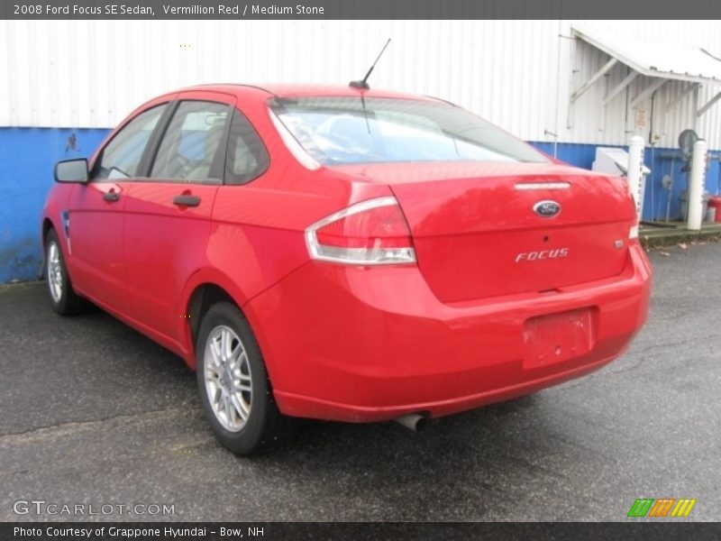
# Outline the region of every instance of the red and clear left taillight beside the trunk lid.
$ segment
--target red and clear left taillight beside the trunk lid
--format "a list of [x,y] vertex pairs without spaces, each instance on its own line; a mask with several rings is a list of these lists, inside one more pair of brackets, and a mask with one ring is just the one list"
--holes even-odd
[[306,229],[310,256],[355,265],[415,263],[406,217],[395,197],[349,206]]

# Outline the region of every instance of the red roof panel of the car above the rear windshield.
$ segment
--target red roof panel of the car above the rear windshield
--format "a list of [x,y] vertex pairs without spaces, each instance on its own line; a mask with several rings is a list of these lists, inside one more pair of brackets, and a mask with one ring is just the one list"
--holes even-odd
[[350,87],[348,85],[298,85],[298,84],[234,84],[218,83],[212,85],[197,85],[178,89],[178,92],[189,90],[214,90],[233,94],[238,97],[266,98],[268,96],[278,97],[299,97],[299,96],[365,96],[365,97],[390,97],[397,99],[415,99],[423,101],[443,101],[430,96],[418,96],[394,92],[391,90],[379,90],[370,88],[367,90]]

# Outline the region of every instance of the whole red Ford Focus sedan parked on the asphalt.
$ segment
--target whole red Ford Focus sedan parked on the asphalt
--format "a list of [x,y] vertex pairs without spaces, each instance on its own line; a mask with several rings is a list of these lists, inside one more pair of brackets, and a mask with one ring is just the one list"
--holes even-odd
[[625,180],[434,98],[192,87],[55,177],[53,307],[182,356],[239,454],[297,417],[413,424],[579,377],[646,318]]

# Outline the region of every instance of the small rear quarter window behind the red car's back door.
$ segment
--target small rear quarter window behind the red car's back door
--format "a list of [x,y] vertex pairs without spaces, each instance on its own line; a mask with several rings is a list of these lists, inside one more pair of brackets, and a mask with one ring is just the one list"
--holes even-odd
[[268,169],[269,156],[260,135],[238,110],[233,112],[225,159],[225,184],[245,184]]

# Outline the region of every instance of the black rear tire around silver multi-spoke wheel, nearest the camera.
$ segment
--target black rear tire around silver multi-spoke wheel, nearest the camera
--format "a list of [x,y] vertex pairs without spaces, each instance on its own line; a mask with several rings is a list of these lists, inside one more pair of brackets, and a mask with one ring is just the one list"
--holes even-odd
[[[244,420],[242,427],[235,426],[234,430],[224,426],[224,423],[228,423],[227,410],[216,414],[214,406],[211,405],[210,397],[210,393],[213,393],[214,404],[217,404],[217,408],[221,409],[224,406],[224,403],[221,404],[221,402],[225,397],[230,397],[231,394],[234,394],[235,404],[240,404],[239,397],[241,395],[237,393],[241,393],[241,391],[231,391],[232,388],[229,383],[229,381],[233,381],[232,385],[236,384],[236,378],[231,377],[227,372],[230,363],[221,365],[214,361],[217,357],[214,357],[212,345],[209,344],[209,341],[218,344],[216,341],[220,340],[219,334],[223,333],[224,327],[231,329],[235,338],[238,339],[233,338],[230,344],[235,344],[235,347],[237,347],[238,342],[240,342],[242,349],[245,351],[247,364],[244,364],[243,377],[250,378],[251,381],[249,386],[251,389],[250,408],[247,418]],[[233,345],[231,345],[231,349],[234,351]],[[213,427],[215,437],[221,444],[235,454],[250,455],[263,453],[279,445],[286,444],[295,436],[297,419],[286,417],[278,410],[255,336],[241,311],[232,303],[219,302],[210,307],[205,313],[197,336],[196,359],[196,379],[200,400],[205,409],[205,417]],[[208,377],[212,383],[207,383],[205,379],[207,363],[213,363],[214,368],[208,369]],[[237,366],[237,364],[234,366]],[[215,378],[218,374],[217,371],[224,370],[224,378]],[[242,371],[241,368],[238,368],[238,371]],[[248,375],[245,375],[246,373]],[[216,385],[215,381],[219,383]],[[223,384],[221,384],[221,381]],[[242,381],[238,381],[239,384],[242,383]],[[209,385],[211,390],[208,389]],[[233,387],[233,389],[235,388]],[[248,396],[247,394],[242,395],[243,404],[246,403],[245,398]],[[233,403],[230,398],[228,401]],[[232,420],[242,423],[239,418],[241,417],[241,409],[234,408],[234,406],[228,406],[228,408],[231,408]]]

